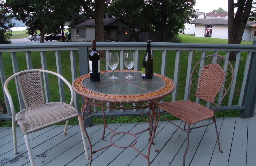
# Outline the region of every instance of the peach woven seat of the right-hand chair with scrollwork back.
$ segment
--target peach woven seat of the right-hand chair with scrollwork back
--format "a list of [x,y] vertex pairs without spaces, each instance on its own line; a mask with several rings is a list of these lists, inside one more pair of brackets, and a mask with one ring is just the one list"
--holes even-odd
[[214,116],[214,112],[211,109],[191,101],[163,102],[159,103],[158,107],[187,124],[194,124]]

